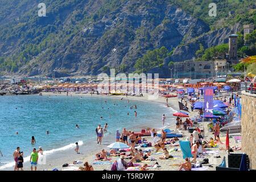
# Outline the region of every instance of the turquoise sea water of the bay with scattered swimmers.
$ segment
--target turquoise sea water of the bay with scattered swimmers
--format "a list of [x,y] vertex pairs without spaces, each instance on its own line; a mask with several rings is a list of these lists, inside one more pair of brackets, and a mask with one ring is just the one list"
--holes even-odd
[[[134,109],[130,109],[132,105],[137,105],[137,118]],[[108,134],[114,134],[123,127],[139,131],[140,126],[160,127],[162,114],[168,116],[171,111],[164,105],[147,101],[130,100],[127,103],[126,98],[121,101],[90,96],[0,97],[0,151],[3,154],[0,156],[0,169],[13,162],[17,146],[24,152],[24,157],[29,156],[32,148],[39,146],[51,154],[58,148],[70,148],[78,141],[80,144],[92,141],[98,124],[104,127],[108,123]],[[75,127],[76,124],[80,129]],[[31,136],[36,139],[34,146],[31,145]]]

